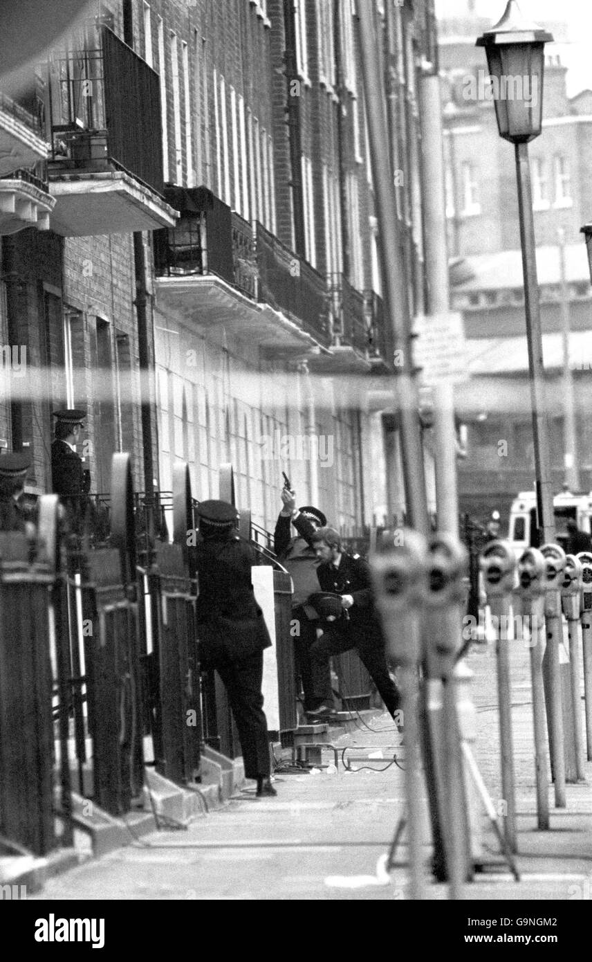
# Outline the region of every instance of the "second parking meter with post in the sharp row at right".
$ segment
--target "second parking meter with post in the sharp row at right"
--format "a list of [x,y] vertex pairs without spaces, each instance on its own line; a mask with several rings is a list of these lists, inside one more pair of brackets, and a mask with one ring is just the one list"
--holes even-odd
[[536,782],[536,820],[540,829],[548,829],[549,782],[547,734],[545,721],[545,689],[543,686],[543,643],[545,640],[545,559],[536,548],[529,548],[518,562],[517,594],[522,602],[523,618],[530,625],[530,683],[532,688],[532,727],[534,732],[534,777]]

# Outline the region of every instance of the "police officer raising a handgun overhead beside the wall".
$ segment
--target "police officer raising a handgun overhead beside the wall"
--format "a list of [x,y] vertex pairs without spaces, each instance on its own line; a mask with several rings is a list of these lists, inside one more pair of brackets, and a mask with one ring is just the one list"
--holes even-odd
[[[308,505],[297,508],[296,495],[287,488],[282,491],[282,501],[284,507],[276,524],[274,550],[294,586],[292,620],[299,629],[294,638],[294,653],[305,696],[304,709],[308,715],[325,713],[333,709],[331,671],[329,662],[320,664],[310,658],[310,646],[316,641],[320,621],[307,599],[317,589],[318,562],[311,539],[317,528],[327,524],[327,519],[318,508]],[[296,528],[294,538],[291,537],[292,524]]]

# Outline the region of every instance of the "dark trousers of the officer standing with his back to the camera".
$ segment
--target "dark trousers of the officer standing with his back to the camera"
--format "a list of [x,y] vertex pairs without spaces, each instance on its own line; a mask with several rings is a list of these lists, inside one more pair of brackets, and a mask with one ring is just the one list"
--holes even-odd
[[269,734],[261,695],[263,652],[216,665],[215,670],[226,688],[238,729],[245,777],[268,775],[271,772]]

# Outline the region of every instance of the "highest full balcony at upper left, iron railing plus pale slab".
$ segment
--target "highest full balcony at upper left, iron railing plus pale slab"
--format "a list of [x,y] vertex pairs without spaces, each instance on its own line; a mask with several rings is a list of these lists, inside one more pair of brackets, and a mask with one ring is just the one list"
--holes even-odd
[[48,72],[52,230],[84,237],[172,226],[158,74],[106,26],[87,30]]

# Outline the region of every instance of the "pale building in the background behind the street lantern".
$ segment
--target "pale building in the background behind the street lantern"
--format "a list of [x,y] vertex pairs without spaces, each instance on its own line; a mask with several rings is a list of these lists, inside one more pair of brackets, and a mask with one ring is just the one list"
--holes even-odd
[[[458,386],[457,410],[468,425],[469,456],[459,467],[461,508],[486,519],[507,514],[512,498],[534,482],[522,259],[514,152],[500,139],[491,99],[481,89],[487,64],[475,40],[487,22],[474,4],[446,8],[438,23],[443,78],[448,245],[452,307],[464,318],[469,380]],[[450,13],[450,15],[449,15]],[[501,13],[501,11],[500,11]],[[551,25],[555,39],[564,24]],[[569,98],[559,45],[545,68],[542,135],[530,145],[534,229],[548,381],[552,468],[556,492],[565,480],[565,402],[561,338],[565,297],[580,487],[592,488],[590,276],[580,226],[590,219],[592,91]],[[481,87],[480,87],[481,85]],[[561,276],[559,229],[565,238]],[[564,281],[564,283],[563,283]],[[568,454],[570,452],[567,452]]]

